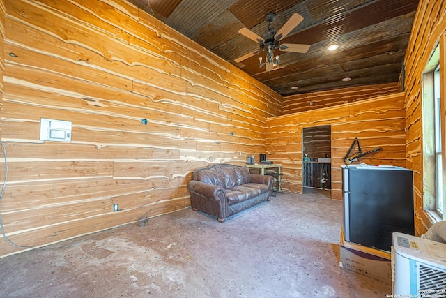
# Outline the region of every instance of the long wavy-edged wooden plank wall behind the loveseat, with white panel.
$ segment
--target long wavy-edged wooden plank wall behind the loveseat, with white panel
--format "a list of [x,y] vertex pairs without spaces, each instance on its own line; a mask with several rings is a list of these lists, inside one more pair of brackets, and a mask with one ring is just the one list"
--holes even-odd
[[[128,1],[0,3],[0,211],[16,244],[184,209],[195,168],[265,151],[265,119],[282,112],[281,96]],[[41,117],[72,121],[72,142],[40,141]],[[0,256],[17,251],[0,238]]]

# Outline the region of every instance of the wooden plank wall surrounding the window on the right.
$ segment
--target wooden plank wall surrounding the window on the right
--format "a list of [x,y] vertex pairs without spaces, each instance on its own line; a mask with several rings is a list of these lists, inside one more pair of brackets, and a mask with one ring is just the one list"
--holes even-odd
[[[414,171],[415,231],[417,234],[424,234],[433,223],[432,218],[423,208],[422,73],[436,43],[444,38],[445,30],[446,1],[421,0],[404,59],[406,68],[406,158],[407,167]],[[446,49],[443,49],[442,59],[444,59],[445,53]],[[444,75],[444,68],[441,71]],[[446,85],[444,76],[442,84]],[[443,146],[445,145],[443,144]]]

